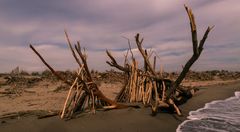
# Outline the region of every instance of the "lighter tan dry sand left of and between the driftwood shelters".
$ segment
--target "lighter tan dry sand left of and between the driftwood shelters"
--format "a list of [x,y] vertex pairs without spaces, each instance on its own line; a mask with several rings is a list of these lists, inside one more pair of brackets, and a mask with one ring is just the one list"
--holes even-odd
[[[25,88],[21,95],[0,94],[0,116],[19,111],[62,109],[68,91],[56,92],[56,89],[61,85],[63,85],[61,82],[41,81],[31,88]],[[3,86],[0,88],[0,92],[4,92],[10,87]],[[100,89],[108,98],[114,99],[121,87],[120,82],[102,83]]]

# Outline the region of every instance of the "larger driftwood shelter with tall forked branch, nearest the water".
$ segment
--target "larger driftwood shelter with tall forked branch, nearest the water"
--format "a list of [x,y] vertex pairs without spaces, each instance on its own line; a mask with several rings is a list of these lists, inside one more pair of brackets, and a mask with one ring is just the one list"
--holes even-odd
[[127,63],[129,62],[127,52],[124,66],[119,65],[112,54],[108,50],[106,51],[111,60],[107,61],[107,63],[112,67],[124,71],[128,75],[125,87],[121,90],[116,98],[117,101],[130,103],[142,102],[144,105],[151,105],[153,114],[156,114],[159,108],[170,108],[175,110],[178,115],[181,115],[178,105],[191,98],[197,89],[186,89],[180,86],[180,84],[188,73],[190,67],[201,55],[203,45],[210,30],[212,29],[208,27],[203,38],[200,42],[198,42],[197,27],[194,15],[192,10],[187,6],[185,6],[185,9],[190,21],[193,55],[185,64],[182,72],[175,81],[164,79],[161,76],[161,71],[160,74],[156,72],[156,56],[153,59],[153,63],[151,63],[150,59],[152,53],[149,53],[146,49],[143,49],[143,38],[141,38],[139,34],[135,36],[135,42],[139,52],[142,55],[142,58],[144,59],[144,68],[142,68],[143,70],[138,68],[138,62],[133,57],[129,40],[129,51],[132,54],[131,61],[130,63]]

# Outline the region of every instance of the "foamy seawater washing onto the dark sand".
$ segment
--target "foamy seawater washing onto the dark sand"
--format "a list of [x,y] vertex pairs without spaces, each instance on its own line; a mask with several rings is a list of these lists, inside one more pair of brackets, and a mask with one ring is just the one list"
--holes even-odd
[[191,111],[177,132],[240,132],[240,91],[234,97]]

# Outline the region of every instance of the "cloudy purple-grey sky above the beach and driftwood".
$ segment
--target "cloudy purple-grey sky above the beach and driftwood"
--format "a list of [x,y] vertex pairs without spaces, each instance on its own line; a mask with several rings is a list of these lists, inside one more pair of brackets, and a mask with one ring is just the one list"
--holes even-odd
[[78,66],[64,35],[86,48],[89,67],[98,71],[114,69],[106,64],[105,50],[120,64],[134,36],[144,37],[143,47],[157,55],[157,68],[181,71],[192,55],[191,32],[184,4],[195,15],[198,39],[208,26],[202,55],[192,70],[240,70],[239,0],[1,0],[0,72],[15,67],[26,71],[46,69],[29,44],[56,70]]

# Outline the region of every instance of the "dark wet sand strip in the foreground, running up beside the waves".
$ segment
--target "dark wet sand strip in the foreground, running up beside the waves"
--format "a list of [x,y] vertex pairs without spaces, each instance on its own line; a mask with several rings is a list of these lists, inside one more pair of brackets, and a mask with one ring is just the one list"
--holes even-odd
[[211,101],[234,96],[235,91],[240,91],[240,81],[200,87],[193,98],[180,106],[182,117],[168,113],[158,113],[152,117],[151,109],[141,106],[141,109],[97,111],[95,115],[80,114],[78,118],[69,121],[63,121],[58,116],[46,119],[36,119],[34,116],[0,119],[0,131],[176,131],[190,111],[202,108]]

